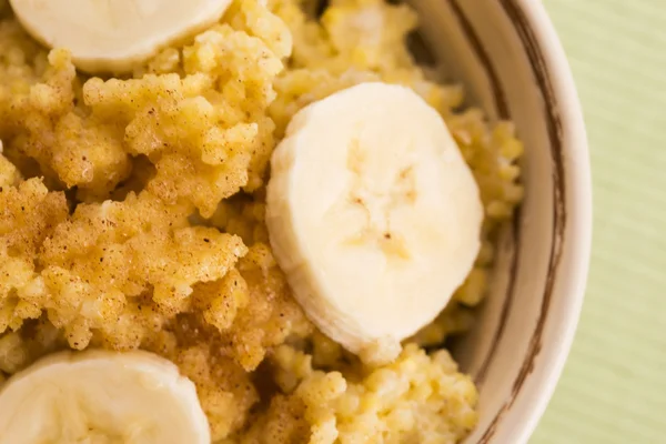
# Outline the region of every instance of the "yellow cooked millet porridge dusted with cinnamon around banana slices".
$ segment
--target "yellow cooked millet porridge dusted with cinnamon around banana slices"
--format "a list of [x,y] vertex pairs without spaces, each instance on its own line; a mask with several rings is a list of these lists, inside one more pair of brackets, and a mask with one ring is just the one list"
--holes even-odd
[[[0,0],[0,386],[54,351],[142,349],[194,382],[215,443],[453,444],[474,427],[473,381],[431,350],[483,300],[523,196],[522,143],[415,62],[408,7],[315,7],[236,0],[131,74],[95,78]],[[307,320],[265,226],[269,161],[291,118],[371,81],[442,115],[485,213],[465,283],[380,367]]]

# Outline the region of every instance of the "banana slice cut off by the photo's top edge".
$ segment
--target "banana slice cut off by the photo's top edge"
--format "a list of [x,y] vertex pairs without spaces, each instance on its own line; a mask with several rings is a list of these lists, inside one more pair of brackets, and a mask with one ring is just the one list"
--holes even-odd
[[88,72],[122,72],[220,20],[231,0],[10,0],[23,27]]

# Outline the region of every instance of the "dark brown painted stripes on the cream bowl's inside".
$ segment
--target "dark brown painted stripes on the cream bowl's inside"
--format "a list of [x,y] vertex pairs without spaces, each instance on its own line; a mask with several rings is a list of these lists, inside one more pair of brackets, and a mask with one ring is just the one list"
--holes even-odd
[[[487,52],[476,31],[474,30],[471,21],[465,16],[463,9],[460,7],[461,0],[447,0],[452,7],[452,10],[456,14],[465,36],[470,40],[480,62],[483,64],[486,70],[486,74],[491,82],[492,91],[494,94],[495,103],[497,105],[497,110],[501,118],[509,118],[508,107],[505,101],[505,93],[502,89],[502,84],[498,81],[498,77],[495,72],[495,69],[487,56]],[[513,405],[515,400],[517,398],[521,389],[523,387],[527,376],[534,370],[534,362],[542,350],[542,335],[544,332],[544,326],[546,324],[548,317],[548,311],[551,309],[551,302],[553,297],[553,287],[555,283],[555,276],[557,274],[557,269],[559,265],[559,259],[562,255],[562,243],[564,239],[564,226],[566,222],[566,211],[565,211],[565,184],[564,184],[564,159],[563,159],[563,131],[562,131],[562,121],[559,118],[559,113],[557,110],[557,100],[555,97],[555,92],[553,89],[553,84],[551,81],[549,72],[545,63],[544,56],[538,46],[538,41],[534,31],[529,26],[529,21],[523,8],[517,4],[516,0],[498,0],[498,3],[504,9],[505,14],[508,17],[511,22],[514,24],[514,29],[521,40],[523,49],[525,50],[525,54],[529,60],[529,64],[532,67],[532,71],[534,78],[536,80],[536,85],[539,90],[541,95],[544,99],[544,115],[546,120],[546,125],[548,130],[548,139],[551,141],[551,158],[553,160],[554,170],[553,170],[553,201],[554,201],[554,211],[553,211],[553,231],[551,233],[552,236],[552,250],[551,256],[548,260],[548,269],[546,275],[546,284],[544,286],[544,293],[542,294],[542,304],[541,311],[538,315],[538,320],[536,326],[534,327],[529,346],[527,349],[527,353],[521,369],[518,371],[517,376],[514,380],[512,392],[507,401],[500,407],[500,410],[495,413],[493,421],[486,427],[484,434],[478,440],[478,444],[488,443],[491,437],[494,435],[500,421],[502,420],[504,413]],[[515,219],[519,220],[519,216]],[[519,223],[514,223],[514,234],[516,242],[516,254],[513,258],[513,263],[511,265],[511,276],[509,284],[507,289],[507,294],[502,306],[502,313],[500,319],[500,325],[497,327],[497,334],[493,340],[493,344],[485,356],[483,364],[477,374],[477,382],[483,381],[485,379],[485,374],[487,369],[490,367],[493,359],[495,357],[495,352],[497,350],[497,345],[503,336],[504,326],[506,324],[506,320],[508,317],[508,312],[514,299],[514,283],[516,278],[516,265],[518,260],[517,252],[519,251],[521,243],[521,231]]]

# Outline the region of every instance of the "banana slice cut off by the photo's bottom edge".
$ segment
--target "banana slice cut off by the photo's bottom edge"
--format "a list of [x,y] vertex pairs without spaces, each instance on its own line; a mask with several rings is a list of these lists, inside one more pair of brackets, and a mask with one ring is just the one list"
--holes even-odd
[[210,444],[194,384],[148,352],[60,353],[0,391],[0,443]]

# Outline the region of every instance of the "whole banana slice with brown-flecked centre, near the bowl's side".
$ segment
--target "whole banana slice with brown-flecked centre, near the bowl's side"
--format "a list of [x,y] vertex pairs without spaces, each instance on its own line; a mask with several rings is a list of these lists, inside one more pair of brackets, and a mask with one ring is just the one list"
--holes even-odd
[[472,269],[483,209],[438,113],[363,83],[294,115],[271,161],[266,224],[294,296],[367,363],[400,352]]

